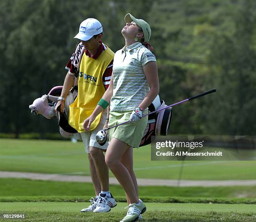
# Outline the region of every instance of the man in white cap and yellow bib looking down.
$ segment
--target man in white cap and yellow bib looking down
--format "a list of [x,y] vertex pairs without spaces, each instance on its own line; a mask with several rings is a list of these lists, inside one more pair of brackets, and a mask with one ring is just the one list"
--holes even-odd
[[108,212],[116,206],[115,199],[109,190],[109,173],[103,154],[108,143],[100,146],[95,138],[99,130],[108,126],[109,108],[97,117],[90,132],[84,131],[83,128],[84,119],[94,111],[100,98],[108,89],[112,75],[114,53],[102,43],[102,32],[102,25],[95,18],[87,18],[80,24],[79,32],[74,38],[81,42],[67,63],[68,73],[55,107],[56,111],[60,106],[60,111],[63,112],[67,94],[74,80],[78,81],[78,96],[69,106],[69,125],[82,137],[95,188],[95,198],[90,199],[91,205],[82,209],[81,212]]

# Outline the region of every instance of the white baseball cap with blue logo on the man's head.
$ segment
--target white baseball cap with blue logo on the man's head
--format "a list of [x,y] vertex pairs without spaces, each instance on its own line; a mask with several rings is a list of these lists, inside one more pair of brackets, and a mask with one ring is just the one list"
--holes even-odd
[[79,33],[74,38],[78,38],[83,41],[87,41],[92,38],[93,35],[102,33],[102,25],[95,18],[87,18],[82,21],[79,27]]

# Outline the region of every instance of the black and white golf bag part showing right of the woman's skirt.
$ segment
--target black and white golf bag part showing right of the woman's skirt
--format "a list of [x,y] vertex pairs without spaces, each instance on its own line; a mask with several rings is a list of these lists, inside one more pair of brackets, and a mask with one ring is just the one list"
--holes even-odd
[[[166,106],[164,101],[160,101],[159,95],[157,95],[151,105],[148,106],[148,111],[153,112]],[[148,115],[148,124],[143,133],[140,146],[151,144],[151,136],[166,136],[170,128],[171,119],[172,107]]]

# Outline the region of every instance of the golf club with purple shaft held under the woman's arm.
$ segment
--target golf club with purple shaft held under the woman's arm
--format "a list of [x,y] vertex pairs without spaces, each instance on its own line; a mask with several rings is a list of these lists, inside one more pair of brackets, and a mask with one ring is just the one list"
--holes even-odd
[[[184,100],[179,101],[179,102],[177,102],[177,103],[174,103],[174,104],[172,104],[172,105],[169,105],[169,106],[166,106],[166,107],[164,107],[164,108],[160,108],[160,109],[158,109],[158,110],[156,110],[156,111],[153,111],[153,112],[151,112],[151,113],[145,114],[145,115],[143,115],[142,117],[148,116],[148,115],[150,115],[150,114],[154,114],[154,113],[156,113],[156,112],[159,112],[159,111],[161,111],[161,110],[164,110],[164,109],[169,108],[169,107],[172,107],[172,106],[177,106],[177,105],[179,105],[179,104],[181,104],[181,103],[187,102],[187,101],[189,101],[189,100],[193,100],[193,99],[195,99],[195,98],[199,98],[199,97],[201,97],[201,96],[205,96],[205,95],[210,94],[210,93],[214,93],[214,92],[216,92],[216,91],[217,91],[217,90],[216,90],[215,88],[213,88],[213,89],[211,89],[211,90],[209,90],[209,91],[206,91],[206,92],[204,92],[204,93],[200,93],[200,94],[198,94],[198,95],[196,95],[196,96],[192,96],[192,97],[190,97],[190,98],[184,99]],[[123,125],[123,124],[127,124],[127,123],[129,123],[129,122],[130,122],[130,121],[128,120],[128,121],[125,121],[125,122],[120,123],[120,124],[118,124],[118,125],[111,126],[111,127],[108,127],[107,129],[102,129],[102,130],[98,131],[97,134],[96,134],[96,140],[97,140],[97,142],[98,142],[101,146],[103,146],[103,145],[106,143],[106,141],[107,141],[107,134],[106,134],[106,131],[107,131],[107,130],[112,129],[112,128],[117,127],[117,126],[121,126],[121,125]]]

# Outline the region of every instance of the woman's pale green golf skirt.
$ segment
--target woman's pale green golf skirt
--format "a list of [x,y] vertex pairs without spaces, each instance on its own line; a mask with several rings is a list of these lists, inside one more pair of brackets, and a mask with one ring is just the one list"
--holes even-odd
[[[130,119],[132,111],[128,112],[112,112],[109,114],[108,127],[112,127],[128,121]],[[143,115],[147,114],[148,110],[143,111]],[[141,143],[141,138],[143,136],[144,130],[148,123],[148,116],[141,118],[136,123],[127,123],[121,126],[114,127],[109,130],[109,141],[112,137],[123,141],[132,147],[139,147]]]

